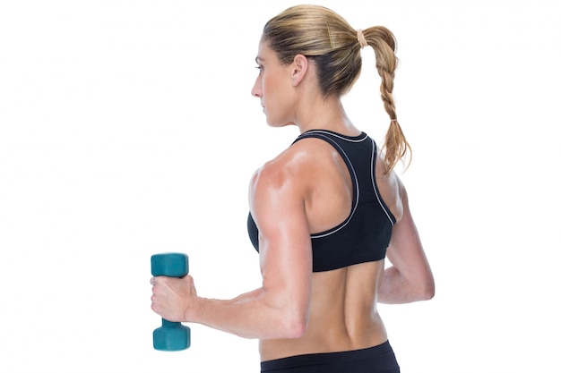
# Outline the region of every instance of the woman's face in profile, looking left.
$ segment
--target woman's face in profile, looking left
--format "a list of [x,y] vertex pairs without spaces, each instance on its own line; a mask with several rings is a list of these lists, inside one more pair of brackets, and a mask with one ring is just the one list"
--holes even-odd
[[295,96],[290,78],[290,65],[281,64],[263,39],[259,43],[255,62],[259,75],[251,94],[261,99],[267,123],[272,127],[294,124]]

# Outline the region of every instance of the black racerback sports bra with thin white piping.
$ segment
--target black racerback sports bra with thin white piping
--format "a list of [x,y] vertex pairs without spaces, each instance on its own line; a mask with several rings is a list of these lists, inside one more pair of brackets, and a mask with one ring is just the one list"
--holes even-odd
[[[365,132],[353,137],[312,130],[302,133],[294,142],[306,138],[325,140],[337,149],[349,168],[353,184],[350,215],[332,229],[310,235],[314,272],[384,259],[395,217],[382,200],[375,182],[375,141]],[[247,232],[255,250],[259,251],[259,231],[251,212],[247,216]]]

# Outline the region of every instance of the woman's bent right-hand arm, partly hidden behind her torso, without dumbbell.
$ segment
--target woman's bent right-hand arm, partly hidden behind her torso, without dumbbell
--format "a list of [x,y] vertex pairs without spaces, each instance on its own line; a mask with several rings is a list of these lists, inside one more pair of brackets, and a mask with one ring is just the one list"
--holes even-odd
[[399,182],[403,216],[393,225],[386,257],[392,263],[384,271],[378,290],[381,303],[426,301],[435,295],[435,279],[428,264],[419,233],[411,216],[407,191]]

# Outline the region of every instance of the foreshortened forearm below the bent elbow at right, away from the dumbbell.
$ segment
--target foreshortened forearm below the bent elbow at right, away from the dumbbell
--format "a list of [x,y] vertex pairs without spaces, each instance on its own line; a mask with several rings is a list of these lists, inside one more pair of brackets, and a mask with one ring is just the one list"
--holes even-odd
[[427,301],[434,296],[434,283],[409,281],[396,267],[384,270],[384,280],[378,289],[378,301],[386,304],[403,304]]

